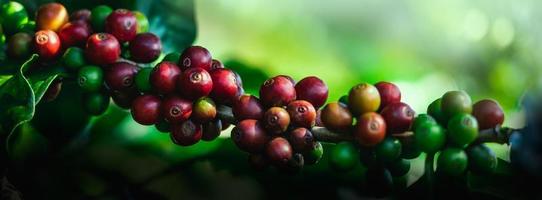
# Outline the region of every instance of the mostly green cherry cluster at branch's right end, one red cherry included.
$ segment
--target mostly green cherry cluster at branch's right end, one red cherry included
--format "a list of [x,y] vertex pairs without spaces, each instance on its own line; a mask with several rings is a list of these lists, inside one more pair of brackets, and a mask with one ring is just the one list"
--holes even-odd
[[438,154],[437,172],[460,176],[467,170],[490,174],[497,167],[493,150],[476,142],[480,130],[500,127],[504,112],[498,102],[483,99],[472,104],[464,91],[450,91],[433,101],[427,114],[416,117],[414,146]]

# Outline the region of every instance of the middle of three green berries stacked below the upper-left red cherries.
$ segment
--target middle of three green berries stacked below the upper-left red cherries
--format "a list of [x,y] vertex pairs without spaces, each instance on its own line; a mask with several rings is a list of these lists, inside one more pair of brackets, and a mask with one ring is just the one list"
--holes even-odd
[[96,66],[85,66],[77,74],[77,84],[85,91],[97,92],[102,88],[104,75],[102,69]]

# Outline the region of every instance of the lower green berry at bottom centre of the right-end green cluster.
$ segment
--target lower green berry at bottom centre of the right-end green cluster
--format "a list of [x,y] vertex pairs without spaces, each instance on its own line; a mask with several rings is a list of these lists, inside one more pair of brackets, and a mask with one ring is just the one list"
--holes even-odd
[[437,160],[437,171],[450,176],[459,176],[467,170],[467,154],[458,148],[447,148],[442,151]]

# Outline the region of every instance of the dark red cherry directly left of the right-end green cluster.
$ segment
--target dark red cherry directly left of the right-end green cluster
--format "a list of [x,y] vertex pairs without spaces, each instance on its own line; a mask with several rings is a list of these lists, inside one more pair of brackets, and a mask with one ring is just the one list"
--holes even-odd
[[410,130],[416,115],[406,103],[392,103],[380,113],[386,121],[388,133],[403,133]]

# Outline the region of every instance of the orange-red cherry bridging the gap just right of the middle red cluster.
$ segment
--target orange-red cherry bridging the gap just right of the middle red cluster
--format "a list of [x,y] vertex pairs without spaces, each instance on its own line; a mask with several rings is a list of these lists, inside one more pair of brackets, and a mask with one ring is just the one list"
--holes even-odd
[[352,114],[345,105],[337,102],[327,104],[322,110],[322,123],[332,131],[344,132],[352,126]]

